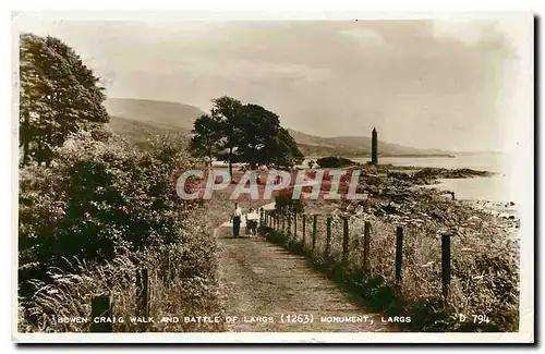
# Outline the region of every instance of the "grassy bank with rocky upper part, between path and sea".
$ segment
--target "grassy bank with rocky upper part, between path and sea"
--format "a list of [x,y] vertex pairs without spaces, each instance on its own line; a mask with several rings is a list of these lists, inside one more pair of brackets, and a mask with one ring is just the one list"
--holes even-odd
[[[411,316],[411,331],[510,332],[519,324],[518,220],[498,218],[435,190],[414,190],[405,176],[364,173],[360,186],[371,198],[358,202],[308,200],[305,237],[299,216],[283,229],[264,228],[272,242],[305,255],[340,285],[356,292],[375,312]],[[279,210],[281,212],[281,210]],[[314,216],[317,222],[314,225]],[[327,222],[331,239],[327,248]],[[348,256],[343,219],[348,218]],[[364,271],[363,235],[371,223],[370,268]],[[291,227],[288,232],[288,224]],[[396,279],[396,228],[403,229],[402,278]],[[278,229],[280,228],[280,230]],[[312,233],[316,230],[315,246]],[[441,235],[451,240],[449,295],[441,295]],[[460,321],[459,314],[467,316]],[[484,315],[474,321],[473,315]],[[481,321],[483,320],[483,321]]]

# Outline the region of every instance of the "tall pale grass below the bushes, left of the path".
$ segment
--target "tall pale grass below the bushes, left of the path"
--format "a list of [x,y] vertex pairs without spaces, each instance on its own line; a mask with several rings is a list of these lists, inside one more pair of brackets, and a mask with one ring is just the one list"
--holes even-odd
[[[90,321],[63,322],[60,318],[89,318],[95,295],[110,294],[114,332],[140,331],[219,331],[221,324],[186,324],[184,316],[215,316],[220,314],[217,302],[217,280],[189,269],[183,247],[169,245],[162,249],[146,249],[137,255],[121,256],[100,266],[74,261],[73,272],[56,267],[48,270],[49,281],[31,279],[33,295],[20,297],[19,331],[22,332],[86,332]],[[213,264],[215,265],[215,263]],[[150,317],[154,322],[142,326],[131,322],[138,310],[136,271],[148,269]],[[215,270],[214,270],[215,271]],[[191,276],[187,276],[191,272]],[[179,317],[172,324],[160,319]]]

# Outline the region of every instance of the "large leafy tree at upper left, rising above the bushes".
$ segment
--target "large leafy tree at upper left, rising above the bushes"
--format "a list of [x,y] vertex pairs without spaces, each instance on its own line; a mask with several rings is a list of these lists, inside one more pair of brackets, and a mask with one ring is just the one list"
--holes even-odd
[[20,37],[21,164],[49,164],[52,150],[81,129],[108,122],[106,95],[72,48],[53,37]]

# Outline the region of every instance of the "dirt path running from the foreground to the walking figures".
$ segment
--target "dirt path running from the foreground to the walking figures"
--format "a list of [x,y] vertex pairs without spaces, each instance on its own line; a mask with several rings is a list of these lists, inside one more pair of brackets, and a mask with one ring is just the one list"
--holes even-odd
[[[241,233],[244,234],[244,229]],[[229,331],[389,330],[380,315],[365,312],[358,305],[358,298],[313,270],[302,256],[292,255],[259,235],[232,239],[229,223],[218,228],[216,235],[222,304],[227,316],[238,317],[237,322],[228,326]],[[295,322],[288,324],[287,315],[295,315]],[[306,324],[298,324],[296,315],[302,315],[299,320]],[[322,320],[326,317],[327,320]],[[356,322],[347,322],[344,317]],[[343,319],[344,322],[339,322]]]

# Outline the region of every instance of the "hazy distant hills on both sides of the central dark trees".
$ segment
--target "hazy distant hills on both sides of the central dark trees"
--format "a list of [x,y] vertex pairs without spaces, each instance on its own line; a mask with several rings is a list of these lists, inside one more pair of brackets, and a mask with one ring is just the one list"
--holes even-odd
[[[145,142],[154,135],[189,134],[193,129],[193,122],[199,115],[205,114],[203,110],[194,106],[146,99],[108,98],[105,106],[110,114],[109,125],[113,132],[135,143]],[[368,136],[322,137],[292,129],[288,131],[306,156],[368,156],[371,154],[371,137]],[[378,151],[380,156],[448,155],[441,150],[417,149],[380,141]]]

